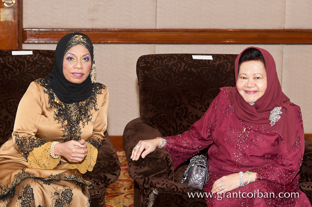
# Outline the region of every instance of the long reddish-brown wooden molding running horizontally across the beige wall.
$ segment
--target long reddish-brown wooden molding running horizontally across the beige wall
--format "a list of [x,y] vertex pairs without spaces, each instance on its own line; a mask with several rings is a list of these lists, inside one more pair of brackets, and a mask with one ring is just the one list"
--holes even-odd
[[73,31],[94,44],[312,44],[312,30],[23,29],[23,43],[57,43]]

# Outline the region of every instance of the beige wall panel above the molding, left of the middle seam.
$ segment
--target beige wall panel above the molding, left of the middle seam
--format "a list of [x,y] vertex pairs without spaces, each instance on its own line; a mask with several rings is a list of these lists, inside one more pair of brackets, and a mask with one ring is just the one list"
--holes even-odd
[[23,1],[24,28],[155,28],[156,0]]

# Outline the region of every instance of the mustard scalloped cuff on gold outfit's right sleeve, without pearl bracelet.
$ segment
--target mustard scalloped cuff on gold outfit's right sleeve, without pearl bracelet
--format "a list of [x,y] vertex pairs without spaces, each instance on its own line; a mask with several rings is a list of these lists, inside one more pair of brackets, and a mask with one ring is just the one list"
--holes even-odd
[[67,165],[66,169],[78,169],[81,173],[86,173],[88,171],[92,171],[93,167],[96,163],[96,158],[98,154],[97,148],[95,148],[89,142],[87,143],[88,153],[85,159],[81,162],[71,162]]

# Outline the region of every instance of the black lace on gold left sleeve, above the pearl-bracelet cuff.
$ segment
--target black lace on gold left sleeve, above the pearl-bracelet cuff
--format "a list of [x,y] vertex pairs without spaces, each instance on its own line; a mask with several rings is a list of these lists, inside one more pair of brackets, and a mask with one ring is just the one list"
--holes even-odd
[[40,147],[45,144],[46,141],[38,139],[36,137],[19,137],[18,134],[15,135],[15,142],[17,144],[17,150],[22,153],[24,158],[28,158],[29,153],[34,150],[35,147]]

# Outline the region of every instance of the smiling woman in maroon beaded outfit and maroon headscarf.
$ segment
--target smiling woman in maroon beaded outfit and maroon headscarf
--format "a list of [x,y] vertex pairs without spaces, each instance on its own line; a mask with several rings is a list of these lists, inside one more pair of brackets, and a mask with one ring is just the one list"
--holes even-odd
[[282,92],[273,57],[246,48],[235,77],[236,87],[221,88],[189,131],[139,141],[131,158],[164,148],[176,168],[211,145],[207,206],[311,206],[296,190],[305,146],[300,107]]

